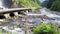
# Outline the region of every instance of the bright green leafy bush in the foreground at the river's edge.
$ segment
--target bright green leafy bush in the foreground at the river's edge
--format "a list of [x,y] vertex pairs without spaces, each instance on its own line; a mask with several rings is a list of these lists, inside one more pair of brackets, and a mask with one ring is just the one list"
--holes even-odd
[[42,23],[34,29],[33,34],[58,34],[58,30],[55,24]]

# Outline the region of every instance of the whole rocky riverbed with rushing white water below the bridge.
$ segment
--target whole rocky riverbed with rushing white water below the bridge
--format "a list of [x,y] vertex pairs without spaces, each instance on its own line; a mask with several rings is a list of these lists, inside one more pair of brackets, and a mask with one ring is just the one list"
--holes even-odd
[[[60,12],[52,12],[47,8],[42,8],[34,12],[29,12],[24,17],[16,17],[16,19],[0,20],[0,28],[3,34],[12,32],[12,34],[25,34],[25,23],[28,23],[28,31],[31,34],[33,27],[43,23],[56,23],[60,26]],[[14,33],[15,32],[15,33]]]

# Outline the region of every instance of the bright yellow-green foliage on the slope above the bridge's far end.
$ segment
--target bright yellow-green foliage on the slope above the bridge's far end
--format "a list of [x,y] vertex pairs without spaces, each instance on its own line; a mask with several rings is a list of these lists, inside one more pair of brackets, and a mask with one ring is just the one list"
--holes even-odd
[[20,3],[20,6],[25,8],[26,7],[32,9],[41,8],[41,6],[37,2],[38,0],[16,0],[16,1]]

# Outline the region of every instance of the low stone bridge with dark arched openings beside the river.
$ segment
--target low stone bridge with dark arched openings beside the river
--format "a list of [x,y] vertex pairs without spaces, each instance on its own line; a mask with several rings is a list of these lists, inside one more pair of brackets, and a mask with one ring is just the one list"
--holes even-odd
[[0,10],[0,19],[14,17],[14,16],[17,16],[19,14],[26,15],[30,11],[32,11],[30,8],[1,9]]

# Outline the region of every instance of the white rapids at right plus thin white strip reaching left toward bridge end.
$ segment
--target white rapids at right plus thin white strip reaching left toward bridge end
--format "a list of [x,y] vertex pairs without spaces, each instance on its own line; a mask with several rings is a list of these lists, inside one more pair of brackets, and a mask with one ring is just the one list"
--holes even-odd
[[33,13],[33,14],[27,14],[27,15],[32,15],[32,16],[46,15],[46,16],[48,16],[50,18],[54,18],[54,19],[60,18],[60,15],[52,14],[51,12],[46,11],[46,8],[40,9],[40,12],[41,12],[41,14]]

